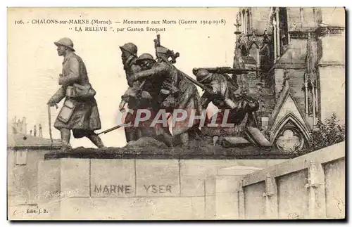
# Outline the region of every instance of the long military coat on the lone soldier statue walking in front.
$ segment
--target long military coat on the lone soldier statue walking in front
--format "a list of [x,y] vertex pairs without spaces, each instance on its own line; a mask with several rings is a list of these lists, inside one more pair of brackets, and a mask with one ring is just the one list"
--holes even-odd
[[56,118],[56,129],[72,129],[75,138],[85,136],[85,131],[101,129],[99,110],[94,95],[87,98],[75,96],[78,89],[91,90],[87,70],[83,60],[75,53],[68,53],[63,59],[62,76],[59,78],[61,88],[52,99],[58,103],[65,98],[65,103]]

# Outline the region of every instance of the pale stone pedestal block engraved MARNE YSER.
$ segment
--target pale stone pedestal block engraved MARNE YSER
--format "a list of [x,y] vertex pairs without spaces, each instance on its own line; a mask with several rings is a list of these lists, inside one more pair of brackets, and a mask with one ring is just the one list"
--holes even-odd
[[36,219],[237,219],[239,179],[271,161],[44,160]]

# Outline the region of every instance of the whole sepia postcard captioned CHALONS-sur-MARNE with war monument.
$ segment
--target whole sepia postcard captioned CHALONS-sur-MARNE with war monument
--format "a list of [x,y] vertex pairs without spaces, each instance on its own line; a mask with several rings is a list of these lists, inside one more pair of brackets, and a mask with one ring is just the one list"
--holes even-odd
[[9,220],[345,219],[345,8],[8,8]]

